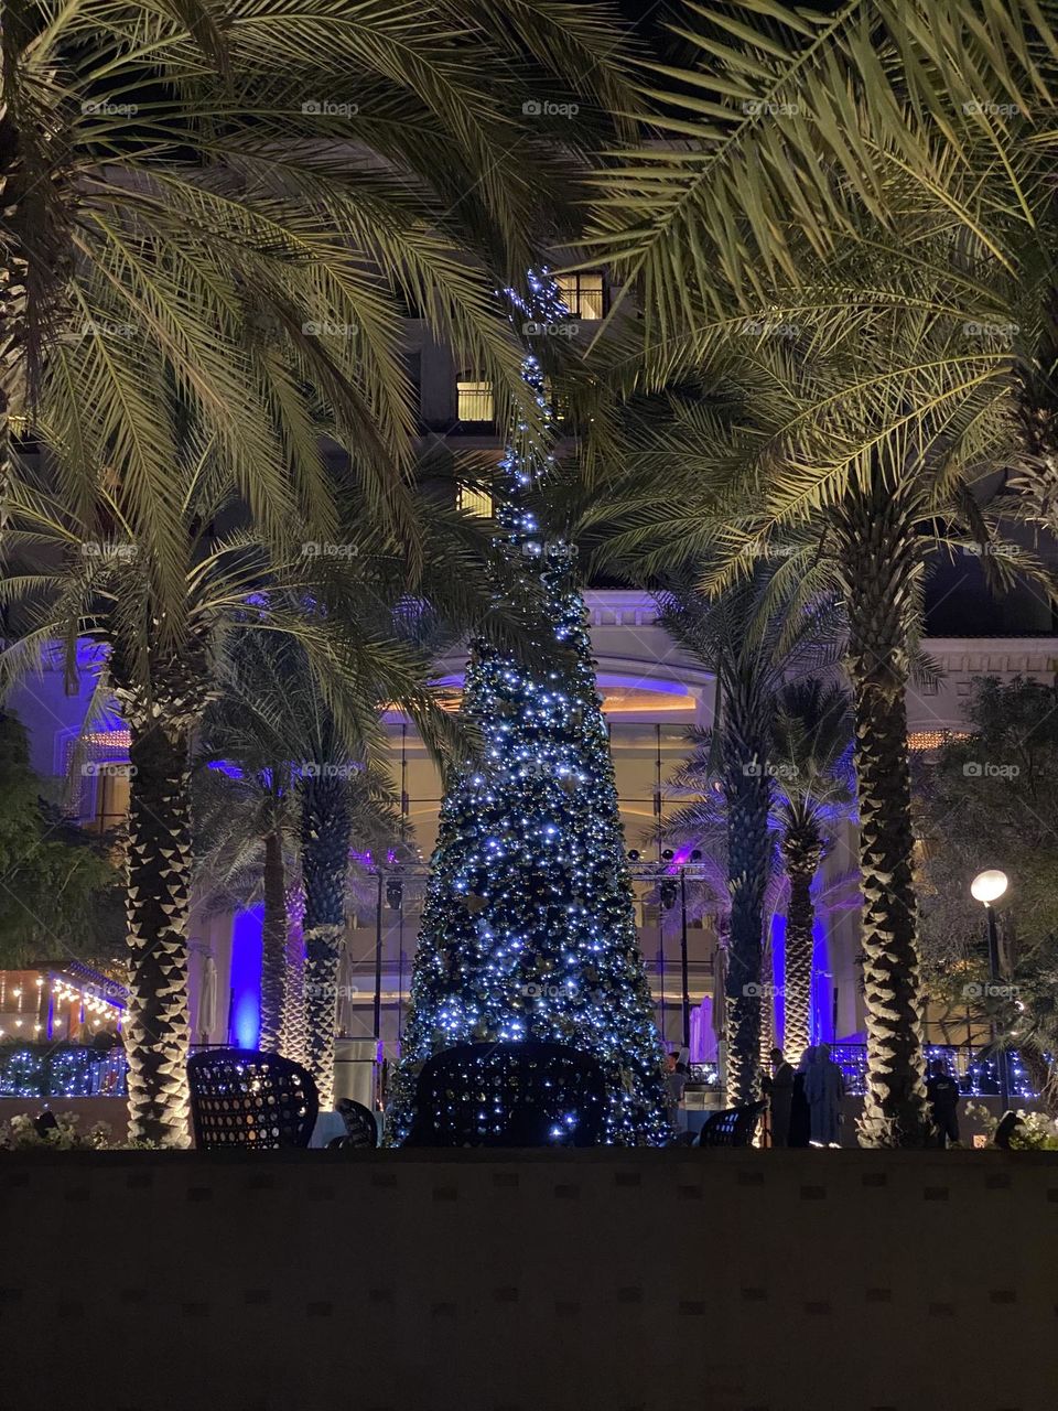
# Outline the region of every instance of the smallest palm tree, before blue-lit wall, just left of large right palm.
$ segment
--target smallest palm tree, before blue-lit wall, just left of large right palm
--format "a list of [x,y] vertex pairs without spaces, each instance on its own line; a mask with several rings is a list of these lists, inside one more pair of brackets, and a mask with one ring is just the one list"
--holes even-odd
[[786,910],[783,1044],[800,1054],[811,1041],[813,886],[834,823],[853,799],[852,722],[839,684],[818,679],[783,687],[774,715],[776,813],[790,897]]

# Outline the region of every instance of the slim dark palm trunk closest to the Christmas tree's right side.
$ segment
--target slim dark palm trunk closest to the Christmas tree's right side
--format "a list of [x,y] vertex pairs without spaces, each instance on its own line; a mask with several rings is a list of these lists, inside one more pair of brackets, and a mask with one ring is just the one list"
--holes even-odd
[[735,686],[725,698],[724,790],[728,810],[728,1102],[755,1102],[760,1088],[760,971],[765,890],[770,842],[772,782],[762,731],[753,728],[758,701]]

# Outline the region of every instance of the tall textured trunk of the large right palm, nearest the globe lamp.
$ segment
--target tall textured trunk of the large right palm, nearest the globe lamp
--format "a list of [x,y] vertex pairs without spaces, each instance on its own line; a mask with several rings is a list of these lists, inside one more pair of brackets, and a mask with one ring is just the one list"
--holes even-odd
[[849,618],[863,892],[868,1091],[859,1140],[920,1146],[931,1123],[907,762],[907,626],[921,571],[913,505],[879,481],[842,505],[834,523]]

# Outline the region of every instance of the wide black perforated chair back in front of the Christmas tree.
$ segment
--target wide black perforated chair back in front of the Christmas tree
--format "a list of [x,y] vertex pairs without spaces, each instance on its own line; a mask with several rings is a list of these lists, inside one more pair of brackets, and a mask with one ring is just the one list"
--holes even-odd
[[403,1146],[601,1146],[607,1082],[566,1044],[458,1044],[423,1065]]

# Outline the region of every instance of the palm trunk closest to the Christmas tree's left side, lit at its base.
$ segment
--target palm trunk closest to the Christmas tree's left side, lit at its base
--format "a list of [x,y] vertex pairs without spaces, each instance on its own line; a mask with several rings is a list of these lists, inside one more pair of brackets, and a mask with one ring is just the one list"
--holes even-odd
[[305,883],[306,1067],[320,1108],[334,1096],[334,1027],[339,951],[346,931],[350,817],[340,777],[302,782],[302,879]]

